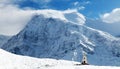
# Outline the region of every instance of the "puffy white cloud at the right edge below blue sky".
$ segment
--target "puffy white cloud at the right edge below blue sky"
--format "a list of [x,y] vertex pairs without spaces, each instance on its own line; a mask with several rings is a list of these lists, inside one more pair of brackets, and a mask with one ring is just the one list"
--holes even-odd
[[112,12],[105,13],[100,17],[106,23],[120,23],[120,8],[113,9]]

